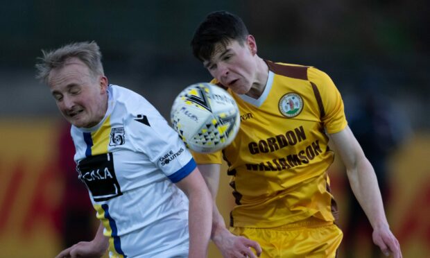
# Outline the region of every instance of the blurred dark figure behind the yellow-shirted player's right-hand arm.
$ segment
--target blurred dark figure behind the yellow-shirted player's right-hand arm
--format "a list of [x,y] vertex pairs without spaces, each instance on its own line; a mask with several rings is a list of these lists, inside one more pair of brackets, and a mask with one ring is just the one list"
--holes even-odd
[[[388,171],[387,158],[406,136],[406,130],[403,128],[406,128],[404,126],[407,124],[407,120],[401,119],[402,116],[396,114],[396,111],[390,107],[390,103],[377,92],[367,90],[355,101],[359,101],[359,103],[353,110],[352,117],[348,119],[348,123],[375,169],[386,207],[390,198],[390,171]],[[381,251],[372,243],[372,227],[350,187],[346,187],[346,194],[349,216],[344,229],[345,257],[354,257],[356,248],[360,248],[358,245],[361,243],[371,248],[371,254],[367,257],[380,257]],[[362,239],[364,240],[360,241]]]

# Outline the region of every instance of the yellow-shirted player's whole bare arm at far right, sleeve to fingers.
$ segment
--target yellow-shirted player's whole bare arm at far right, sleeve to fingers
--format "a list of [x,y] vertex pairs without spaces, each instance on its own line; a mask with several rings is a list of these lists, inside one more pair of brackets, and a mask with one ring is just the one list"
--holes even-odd
[[399,242],[388,226],[375,171],[359,142],[348,126],[329,136],[345,164],[352,191],[373,227],[374,243],[385,255],[391,253],[395,258],[402,257]]

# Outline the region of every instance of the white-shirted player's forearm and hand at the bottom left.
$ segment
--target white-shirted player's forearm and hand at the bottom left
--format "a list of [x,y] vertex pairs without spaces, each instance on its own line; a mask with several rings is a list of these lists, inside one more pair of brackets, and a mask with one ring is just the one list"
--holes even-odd
[[92,241],[82,241],[62,250],[55,258],[102,257],[109,247],[109,240],[103,235],[103,225],[100,223],[96,236]]

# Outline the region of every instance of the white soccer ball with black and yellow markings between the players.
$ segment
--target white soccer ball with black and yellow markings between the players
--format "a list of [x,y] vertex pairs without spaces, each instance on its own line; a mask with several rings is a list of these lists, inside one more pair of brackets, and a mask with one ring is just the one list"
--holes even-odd
[[240,122],[234,98],[210,83],[186,87],[171,110],[173,128],[188,148],[199,153],[213,153],[231,144]]

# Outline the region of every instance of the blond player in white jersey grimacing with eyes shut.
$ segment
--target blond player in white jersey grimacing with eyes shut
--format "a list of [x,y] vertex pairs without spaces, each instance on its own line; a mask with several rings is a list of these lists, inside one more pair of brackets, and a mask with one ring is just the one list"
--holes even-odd
[[101,221],[92,241],[58,257],[205,257],[212,198],[178,134],[143,96],[107,83],[96,42],[42,53],[37,78],[71,123]]

